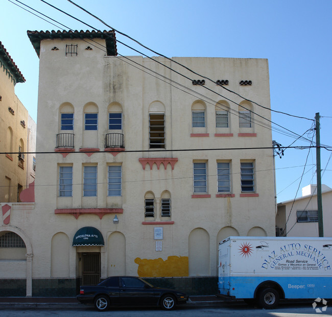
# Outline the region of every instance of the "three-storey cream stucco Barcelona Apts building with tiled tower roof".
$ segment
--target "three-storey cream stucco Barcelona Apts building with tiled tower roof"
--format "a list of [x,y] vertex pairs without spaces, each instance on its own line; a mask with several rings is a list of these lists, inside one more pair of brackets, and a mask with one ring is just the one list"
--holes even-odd
[[221,239],[275,235],[266,59],[120,57],[112,31],[28,36],[35,203],[10,223],[31,247],[27,294],[75,295],[111,275],[202,294],[217,289]]

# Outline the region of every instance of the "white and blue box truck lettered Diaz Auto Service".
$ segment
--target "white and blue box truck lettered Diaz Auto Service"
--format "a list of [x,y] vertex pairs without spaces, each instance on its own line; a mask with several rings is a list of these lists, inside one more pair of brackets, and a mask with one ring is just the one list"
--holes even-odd
[[331,299],[331,266],[332,238],[232,236],[219,243],[219,294],[263,308]]

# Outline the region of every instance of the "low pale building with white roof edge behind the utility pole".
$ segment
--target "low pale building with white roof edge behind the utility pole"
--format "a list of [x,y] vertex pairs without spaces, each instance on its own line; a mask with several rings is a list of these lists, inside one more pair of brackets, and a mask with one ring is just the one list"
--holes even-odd
[[[324,237],[332,237],[332,189],[322,184]],[[302,197],[278,203],[277,234],[289,237],[318,237],[317,185],[302,188]]]

